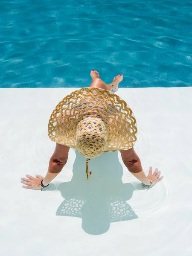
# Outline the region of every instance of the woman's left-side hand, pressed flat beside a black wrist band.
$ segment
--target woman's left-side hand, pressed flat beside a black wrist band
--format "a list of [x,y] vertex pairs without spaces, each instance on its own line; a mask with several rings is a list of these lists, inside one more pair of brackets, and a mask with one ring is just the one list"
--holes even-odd
[[26,175],[26,177],[28,177],[28,179],[21,178],[20,182],[27,185],[27,186],[22,186],[22,187],[25,189],[42,189],[41,180],[43,180],[44,177],[41,175],[35,175],[35,176],[37,178],[32,177],[30,175]]

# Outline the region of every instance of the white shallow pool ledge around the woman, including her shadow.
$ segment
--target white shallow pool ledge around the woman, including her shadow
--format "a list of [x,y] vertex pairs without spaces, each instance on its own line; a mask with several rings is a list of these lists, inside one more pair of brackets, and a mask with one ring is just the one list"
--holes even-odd
[[48,120],[73,90],[0,90],[0,255],[191,256],[192,87],[118,90],[137,120],[145,174],[152,166],[164,176],[148,191],[118,151],[91,159],[86,180],[73,148],[45,190],[23,189],[20,177],[46,175],[55,148]]

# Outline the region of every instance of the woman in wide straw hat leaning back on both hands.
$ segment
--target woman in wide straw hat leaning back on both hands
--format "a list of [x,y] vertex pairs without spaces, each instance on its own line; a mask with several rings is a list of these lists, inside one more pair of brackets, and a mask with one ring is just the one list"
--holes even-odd
[[[121,82],[122,79],[123,79],[122,75],[118,75],[118,76],[116,76],[113,79],[111,84],[105,84],[104,81],[99,79],[99,73],[96,70],[92,70],[90,72],[90,76],[93,79],[92,83],[90,84],[90,87],[102,89],[102,90],[90,89],[91,92],[93,92],[93,90],[94,90],[94,93],[96,93],[96,96],[95,96],[96,98],[95,99],[98,99],[98,100],[101,100],[101,98],[102,98],[101,95],[103,95],[103,93],[106,92],[106,90],[109,91],[109,92],[112,92],[112,93],[116,92],[118,90],[119,82]],[[89,89],[88,88],[86,90],[85,89],[80,89],[80,90],[81,90],[81,94],[82,93],[89,93]],[[101,92],[101,94],[98,94],[100,92]],[[106,120],[106,122],[103,122],[104,119],[102,119],[102,116],[103,116],[103,113],[105,113],[104,111],[106,111],[105,107],[107,109],[109,109],[109,106],[110,106],[111,109],[113,108],[113,113],[110,112],[111,114],[113,114],[113,117],[117,118],[118,114],[120,114],[119,109],[117,107],[114,108],[114,105],[110,104],[112,101],[113,101],[113,103],[115,102],[114,100],[111,100],[112,98],[114,99],[114,96],[118,99],[118,103],[122,104],[122,102],[123,102],[124,105],[126,105],[126,103],[121,98],[119,98],[119,96],[116,96],[116,94],[111,95],[109,93],[107,93],[107,94],[105,93],[105,95],[106,95],[106,97],[108,99],[108,101],[107,101],[108,103],[106,103],[105,99],[103,99],[103,102],[102,102],[103,105],[100,106],[100,109],[99,109],[100,112],[97,112],[97,111],[96,111],[96,113],[93,112],[93,109],[98,107],[98,104],[99,104],[98,102],[99,101],[96,101],[96,105],[94,107],[93,104],[90,104],[90,102],[92,103],[93,99],[94,99],[92,97],[91,98],[92,101],[89,101],[89,102],[87,101],[88,103],[85,100],[84,101],[81,100],[81,105],[79,107],[78,114],[76,114],[76,116],[73,115],[73,116],[67,117],[68,119],[66,119],[67,111],[69,111],[69,106],[67,107],[68,110],[63,110],[64,109],[64,104],[67,104],[66,102],[69,102],[69,99],[71,99],[71,97],[74,96],[74,95],[75,94],[72,93],[70,95],[70,97],[69,96],[65,97],[63,99],[63,101],[60,102],[57,105],[57,107],[56,107],[56,109],[58,110],[57,116],[60,115],[60,117],[62,119],[60,117],[59,117],[60,119],[58,117],[56,117],[56,114],[55,114],[55,117],[53,117],[54,116],[54,114],[53,114],[54,111],[53,111],[52,116],[51,116],[51,118],[49,120],[49,137],[50,137],[51,140],[53,140],[55,142],[58,141],[59,143],[56,143],[55,151],[54,151],[54,153],[52,154],[52,157],[49,160],[49,168],[48,168],[47,175],[45,177],[42,177],[41,175],[36,175],[36,178],[32,177],[30,175],[26,175],[27,178],[24,178],[24,177],[21,178],[21,182],[26,185],[26,186],[23,186],[23,188],[27,188],[27,189],[42,189],[45,186],[48,186],[48,184],[61,172],[61,170],[63,169],[63,167],[67,163],[68,153],[69,153],[70,147],[78,148],[80,153],[82,155],[84,155],[84,157],[87,157],[87,169],[86,169],[87,179],[89,177],[88,176],[88,160],[90,158],[99,156],[99,154],[102,154],[102,152],[108,152],[109,150],[111,150],[111,151],[118,150],[117,146],[116,147],[111,146],[111,148],[110,148],[109,143],[108,143],[109,134],[110,134],[110,133],[108,133],[108,131],[110,130],[110,127],[111,127],[110,125],[112,125],[112,123],[114,125],[114,120],[115,119],[113,119],[113,121],[111,121],[111,124],[110,124],[110,120],[111,120],[111,118],[109,118],[110,115],[108,115],[108,117],[107,117],[108,119]],[[97,97],[97,95],[100,95],[100,96]],[[72,99],[74,99],[74,98],[72,97]],[[90,109],[89,109],[89,112],[85,111],[81,115],[81,113],[82,113],[82,105],[83,104],[89,105],[89,107],[92,108],[92,110],[91,110],[92,112],[90,112]],[[107,106],[106,106],[106,104],[107,104]],[[62,105],[62,110],[65,111],[64,112],[65,114],[63,114],[62,111],[61,111],[61,105]],[[104,105],[105,105],[105,107],[103,107]],[[87,109],[88,107],[86,106],[85,108]],[[70,113],[74,114],[76,109],[77,109],[77,105],[73,105],[73,110]],[[131,128],[134,127],[135,130],[134,130],[134,133],[133,133],[134,134],[133,137],[135,139],[133,139],[133,137],[132,137],[132,139],[130,139],[131,135],[130,135],[130,132],[129,132],[127,134],[127,136],[128,135],[130,136],[130,137],[128,137],[128,140],[132,144],[129,143],[129,144],[126,144],[124,146],[122,145],[122,147],[120,147],[121,149],[119,149],[119,151],[121,153],[121,157],[122,157],[123,163],[127,167],[128,171],[131,172],[138,180],[140,180],[142,182],[143,187],[146,186],[147,188],[149,188],[150,186],[154,185],[158,181],[162,180],[163,176],[160,177],[160,171],[158,171],[158,169],[155,169],[154,173],[152,173],[152,167],[149,168],[148,176],[146,176],[145,173],[143,172],[143,169],[142,169],[142,166],[141,166],[141,162],[140,162],[140,158],[138,157],[138,155],[134,151],[134,147],[133,147],[134,142],[136,141],[136,137],[135,136],[137,134],[137,128],[135,126],[136,125],[136,120],[134,119],[134,116],[133,116],[133,113],[132,113],[131,109],[127,108],[127,105],[125,106],[125,109],[127,111],[129,111],[128,115],[129,115],[129,117],[130,116],[132,117],[132,120],[134,120],[134,122],[131,123],[131,125],[132,125],[132,127],[131,127],[130,123],[128,123],[128,121],[125,120],[125,115],[123,114],[125,111],[122,111],[121,115],[124,118],[124,121],[123,121],[124,122],[124,127],[127,127],[127,125],[129,125]],[[81,110],[81,112],[80,112],[80,110]],[[89,113],[89,114],[87,115],[87,113]],[[92,118],[92,116],[93,116],[92,113],[96,114],[96,115],[94,115],[94,118]],[[100,113],[100,115],[98,113]],[[80,116],[81,116],[81,118],[80,118]],[[75,144],[74,143],[70,144],[69,141],[67,141],[67,139],[69,140],[69,134],[68,133],[64,135],[64,133],[66,133],[66,131],[67,131],[67,126],[68,126],[68,125],[66,126],[66,124],[72,118],[73,118],[73,120],[74,120],[74,118],[76,119],[75,126],[74,126],[74,129],[76,129],[76,134],[73,134],[73,136],[75,137],[75,139],[74,139],[74,141],[75,141],[74,143]],[[53,119],[54,119],[54,121],[52,121]],[[103,134],[99,134],[98,135],[98,137],[101,138],[102,143],[99,140],[99,143],[97,143],[97,145],[94,144],[93,147],[92,147],[93,144],[90,144],[90,139],[89,138],[87,138],[87,140],[86,140],[86,141],[88,141],[88,144],[85,143],[85,140],[83,140],[83,139],[85,139],[84,138],[85,135],[82,135],[82,133],[81,133],[83,127],[85,126],[84,123],[86,123],[86,122],[81,122],[81,121],[84,121],[86,119],[89,120],[88,122],[90,122],[91,119],[99,120],[99,125],[96,125],[96,127],[99,126],[100,130],[102,130],[101,127],[103,127],[103,130],[105,130],[104,135]],[[64,120],[67,121],[67,122],[64,122]],[[93,120],[91,120],[91,121],[93,121]],[[109,122],[107,122],[107,121],[109,121]],[[53,122],[56,123],[56,126],[53,125]],[[79,127],[80,124],[81,124],[81,127]],[[105,125],[106,125],[107,128],[105,127]],[[116,125],[119,125],[119,123],[116,123]],[[93,128],[93,126],[91,126],[91,128]],[[70,129],[72,129],[72,126],[70,126]],[[102,130],[102,132],[103,132],[103,130]],[[52,131],[55,132],[54,135],[53,135]],[[70,131],[70,130],[68,130],[68,131]],[[99,131],[99,130],[95,130],[95,131]],[[125,130],[123,130],[123,131],[125,132]],[[128,131],[128,129],[126,131]],[[130,130],[130,131],[132,131],[132,130]],[[84,133],[85,133],[85,131],[84,131]],[[93,135],[93,134],[91,134],[91,135]],[[119,137],[120,133],[117,131],[116,135],[118,135],[116,137]],[[93,135],[92,138],[93,138],[94,143],[95,143],[95,141],[96,141],[95,135]],[[103,141],[104,141],[104,143],[103,143]],[[123,141],[123,140],[121,140],[121,141]],[[93,141],[91,141],[91,142],[93,142]],[[84,146],[83,149],[82,149],[82,145]],[[96,147],[99,147],[100,145],[102,145],[102,146],[101,146],[100,151],[98,153],[98,148],[96,148]],[[108,145],[108,148],[107,148],[106,145]],[[111,143],[111,145],[113,145],[113,143]],[[127,149],[125,149],[125,148],[127,148]],[[97,149],[97,154],[94,153],[96,151],[96,149]],[[81,150],[82,150],[82,152],[81,152]],[[90,174],[91,174],[91,172],[90,172]]]

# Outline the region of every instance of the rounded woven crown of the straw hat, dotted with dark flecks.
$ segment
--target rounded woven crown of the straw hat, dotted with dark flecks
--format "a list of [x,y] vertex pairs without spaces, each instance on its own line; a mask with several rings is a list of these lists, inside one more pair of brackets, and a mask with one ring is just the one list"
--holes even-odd
[[97,157],[105,150],[108,132],[102,119],[87,117],[76,128],[76,147],[87,158]]

